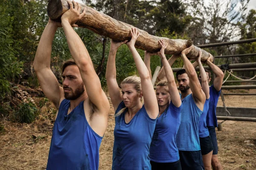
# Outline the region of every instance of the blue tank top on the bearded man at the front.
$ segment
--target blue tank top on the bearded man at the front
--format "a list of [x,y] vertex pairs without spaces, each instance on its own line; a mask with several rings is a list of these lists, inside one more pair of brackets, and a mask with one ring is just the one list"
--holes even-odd
[[47,170],[98,170],[102,137],[88,124],[81,102],[68,115],[70,100],[64,99],[55,120]]

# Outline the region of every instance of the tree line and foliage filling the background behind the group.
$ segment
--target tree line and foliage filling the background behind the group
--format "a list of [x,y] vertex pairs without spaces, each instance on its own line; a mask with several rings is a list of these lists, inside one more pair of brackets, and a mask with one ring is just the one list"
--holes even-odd
[[[192,39],[195,45],[255,38],[256,11],[246,12],[248,2],[211,0],[205,4],[204,0],[84,0],[87,6],[149,34],[170,39]],[[0,114],[17,113],[19,116],[15,120],[18,122],[23,119],[20,110],[35,112],[37,109],[35,102],[26,97],[29,94],[24,94],[24,89],[39,86],[32,63],[48,22],[47,4],[48,0],[0,1]],[[102,86],[106,88],[105,68],[111,40],[84,28],[74,29],[86,45]],[[255,53],[256,42],[206,50],[213,55]],[[144,57],[144,51],[138,51]],[[70,57],[64,32],[58,28],[52,45],[51,69],[60,83],[62,62]],[[226,62],[255,62],[255,58],[216,59],[216,64]],[[161,65],[160,58],[153,56],[151,70],[154,71],[157,65]],[[182,65],[181,59],[177,59],[174,67]],[[125,45],[117,53],[116,70],[119,83],[125,77],[137,74]]]

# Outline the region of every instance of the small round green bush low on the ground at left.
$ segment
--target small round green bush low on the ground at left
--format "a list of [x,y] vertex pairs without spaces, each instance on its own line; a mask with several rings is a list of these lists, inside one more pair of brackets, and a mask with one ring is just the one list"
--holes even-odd
[[21,103],[14,114],[16,122],[32,123],[38,114],[38,109],[31,101]]

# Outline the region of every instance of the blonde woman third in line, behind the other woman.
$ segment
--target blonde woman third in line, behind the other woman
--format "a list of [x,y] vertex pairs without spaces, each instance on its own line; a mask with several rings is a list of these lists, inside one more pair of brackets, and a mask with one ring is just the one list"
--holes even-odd
[[[164,40],[159,40],[159,44],[162,48],[157,52],[157,55],[161,58],[167,80],[157,83],[156,95],[159,115],[150,146],[150,163],[152,170],[181,170],[176,136],[180,127],[182,103],[172,68],[164,54],[166,43]],[[148,70],[150,69],[151,55],[153,54],[145,51],[144,60]]]

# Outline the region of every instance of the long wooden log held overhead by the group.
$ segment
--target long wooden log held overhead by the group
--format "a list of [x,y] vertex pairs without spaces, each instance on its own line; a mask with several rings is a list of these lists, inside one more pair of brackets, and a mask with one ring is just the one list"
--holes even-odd
[[[125,41],[131,40],[130,29],[134,26],[131,26],[127,23],[123,23],[121,21],[115,20],[112,17],[103,14],[102,12],[96,11],[89,6],[81,4],[81,12],[86,10],[86,14],[81,20],[77,21],[77,25],[79,27],[88,28],[96,34],[100,34],[106,37],[109,37],[116,41]],[[64,14],[69,9],[69,5],[67,0],[50,0],[47,8],[48,16],[52,20],[61,20],[61,15]],[[175,54],[179,55],[181,51],[192,46],[191,51],[187,54],[189,59],[196,59],[199,55],[198,47],[193,45],[192,40],[171,40],[166,37],[156,37],[148,34],[146,31],[139,29],[140,37],[138,37],[135,47],[155,53],[161,49],[158,44],[158,40],[165,40],[166,44],[168,44],[165,54]],[[209,54],[207,51],[202,50],[202,61],[205,61],[211,57],[211,61],[213,61],[212,54]]]

